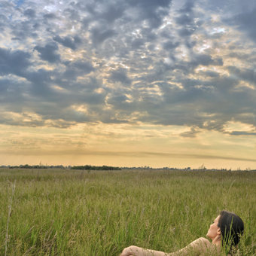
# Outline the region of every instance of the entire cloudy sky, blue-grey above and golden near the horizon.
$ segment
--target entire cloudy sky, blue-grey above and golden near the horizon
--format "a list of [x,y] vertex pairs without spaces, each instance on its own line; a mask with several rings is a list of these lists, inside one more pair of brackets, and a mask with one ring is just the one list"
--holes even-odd
[[0,165],[256,169],[254,0],[0,0]]

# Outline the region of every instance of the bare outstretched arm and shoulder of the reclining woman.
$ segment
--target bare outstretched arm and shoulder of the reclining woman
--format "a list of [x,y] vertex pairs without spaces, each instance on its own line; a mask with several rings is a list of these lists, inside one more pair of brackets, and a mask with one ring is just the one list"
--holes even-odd
[[120,256],[183,256],[188,255],[193,252],[194,255],[199,255],[206,253],[210,249],[212,249],[212,243],[209,242],[206,238],[200,237],[193,242],[190,242],[189,245],[182,248],[179,251],[166,253],[163,251],[154,251],[149,249],[140,248],[137,246],[130,246],[123,250]]

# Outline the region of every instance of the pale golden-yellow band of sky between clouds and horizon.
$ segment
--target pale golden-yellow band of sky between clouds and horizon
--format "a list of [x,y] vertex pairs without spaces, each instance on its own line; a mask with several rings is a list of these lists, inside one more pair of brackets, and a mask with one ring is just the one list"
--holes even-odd
[[8,130],[8,139],[0,136],[2,165],[256,168],[254,141],[249,144],[243,136],[234,140],[216,131],[197,130],[194,136],[186,126],[87,123],[69,129],[1,128]]

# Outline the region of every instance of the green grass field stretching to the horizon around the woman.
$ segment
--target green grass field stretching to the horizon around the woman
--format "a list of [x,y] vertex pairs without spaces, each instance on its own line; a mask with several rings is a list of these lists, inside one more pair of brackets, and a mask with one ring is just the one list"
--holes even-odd
[[240,251],[253,255],[255,192],[256,172],[0,169],[0,255],[175,251],[221,209],[241,216]]

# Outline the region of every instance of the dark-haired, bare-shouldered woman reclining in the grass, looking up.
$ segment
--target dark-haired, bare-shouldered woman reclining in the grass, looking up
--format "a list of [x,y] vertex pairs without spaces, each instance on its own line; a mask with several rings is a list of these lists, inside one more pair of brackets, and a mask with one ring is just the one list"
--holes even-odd
[[200,237],[185,248],[172,253],[148,250],[132,245],[125,248],[120,256],[216,255],[221,254],[223,248],[224,251],[232,253],[233,247],[238,244],[243,230],[244,224],[239,216],[233,212],[221,211],[213,224],[210,225],[206,235],[212,239],[212,242]]

